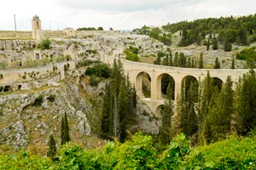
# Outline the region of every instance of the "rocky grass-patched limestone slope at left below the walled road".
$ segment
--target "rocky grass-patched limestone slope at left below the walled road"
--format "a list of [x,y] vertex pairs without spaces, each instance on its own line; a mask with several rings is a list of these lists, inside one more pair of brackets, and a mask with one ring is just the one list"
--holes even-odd
[[[41,104],[36,105],[40,96],[43,96]],[[65,112],[72,139],[84,143],[86,136],[97,133],[100,126],[94,111],[90,102],[80,97],[79,87],[73,82],[0,94],[0,124],[4,125],[0,126],[0,144],[8,144],[15,150],[31,145],[47,146],[49,134],[56,136],[58,144]]]

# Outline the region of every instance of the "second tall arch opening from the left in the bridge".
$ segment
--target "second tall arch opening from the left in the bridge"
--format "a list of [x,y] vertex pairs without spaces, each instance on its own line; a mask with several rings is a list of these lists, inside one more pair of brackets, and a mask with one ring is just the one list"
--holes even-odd
[[164,95],[167,92],[167,88],[169,83],[171,84],[172,87],[172,92],[173,92],[173,99],[174,99],[174,94],[175,94],[175,80],[174,78],[167,73],[162,73],[156,78],[156,97],[158,100],[164,99]]

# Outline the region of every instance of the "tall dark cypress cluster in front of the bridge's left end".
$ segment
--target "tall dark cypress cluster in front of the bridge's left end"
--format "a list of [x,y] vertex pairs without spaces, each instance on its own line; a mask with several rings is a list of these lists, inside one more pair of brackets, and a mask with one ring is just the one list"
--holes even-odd
[[137,95],[120,61],[114,60],[112,78],[106,84],[102,108],[102,132],[125,142],[128,128],[136,122]]

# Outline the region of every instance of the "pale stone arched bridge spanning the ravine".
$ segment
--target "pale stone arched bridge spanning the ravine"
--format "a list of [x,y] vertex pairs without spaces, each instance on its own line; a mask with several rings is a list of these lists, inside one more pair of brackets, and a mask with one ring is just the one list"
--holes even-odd
[[[113,60],[117,59],[112,56],[102,57],[102,62],[113,64]],[[171,67],[164,65],[150,65],[145,63],[133,62],[126,59],[120,59],[123,63],[126,74],[129,74],[131,82],[135,84],[137,95],[146,103],[151,111],[156,116],[160,116],[160,106],[164,104],[164,99],[161,97],[161,78],[163,75],[170,75],[175,82],[175,99],[180,91],[181,83],[186,77],[195,77],[197,81],[203,80],[207,76],[207,71],[210,72],[211,77],[218,78],[222,82],[226,81],[228,76],[236,82],[239,77],[247,73],[246,69],[190,69]],[[143,73],[148,73],[151,79],[151,98],[143,98]],[[235,84],[234,84],[235,85]]]

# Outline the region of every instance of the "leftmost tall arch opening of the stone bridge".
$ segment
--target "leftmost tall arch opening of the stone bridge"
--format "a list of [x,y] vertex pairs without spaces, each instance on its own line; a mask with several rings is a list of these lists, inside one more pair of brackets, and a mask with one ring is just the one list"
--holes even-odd
[[141,71],[136,78],[137,96],[151,98],[151,77],[146,71]]

